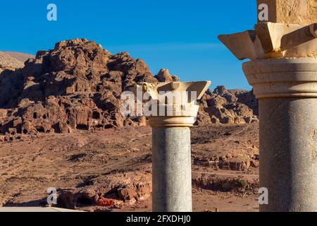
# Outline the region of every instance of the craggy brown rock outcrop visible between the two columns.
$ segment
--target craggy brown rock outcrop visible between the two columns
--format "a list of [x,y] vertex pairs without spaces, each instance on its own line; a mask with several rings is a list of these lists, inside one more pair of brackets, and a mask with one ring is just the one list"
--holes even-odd
[[218,86],[208,90],[200,101],[197,124],[245,124],[258,121],[258,102],[252,92],[226,90]]

